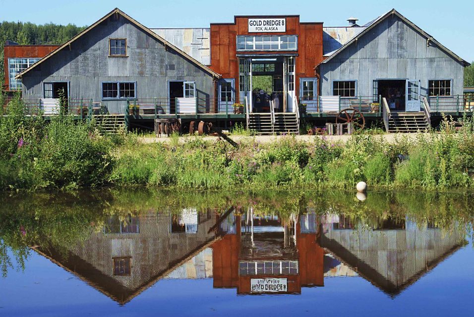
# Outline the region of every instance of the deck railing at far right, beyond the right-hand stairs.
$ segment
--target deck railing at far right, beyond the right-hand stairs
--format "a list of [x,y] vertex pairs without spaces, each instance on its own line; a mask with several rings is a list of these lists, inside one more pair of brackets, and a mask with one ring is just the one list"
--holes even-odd
[[[423,96],[424,97],[424,96]],[[428,96],[426,97],[431,112],[462,112],[474,111],[473,95]]]

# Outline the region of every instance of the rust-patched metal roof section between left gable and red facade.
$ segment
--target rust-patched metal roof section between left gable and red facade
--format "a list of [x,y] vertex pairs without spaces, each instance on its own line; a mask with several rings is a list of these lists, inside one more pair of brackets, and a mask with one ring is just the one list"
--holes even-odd
[[204,65],[211,64],[209,28],[150,29]]

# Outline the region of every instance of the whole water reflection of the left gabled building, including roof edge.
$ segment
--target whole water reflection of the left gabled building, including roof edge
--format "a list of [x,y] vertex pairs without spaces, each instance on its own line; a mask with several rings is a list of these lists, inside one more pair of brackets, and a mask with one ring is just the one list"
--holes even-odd
[[67,252],[51,248],[36,251],[124,304],[192,260],[213,241],[214,233],[208,230],[215,222],[214,213],[197,215],[187,211],[178,218],[195,219],[196,223],[186,232],[173,232],[176,217],[171,214],[150,212],[124,219],[114,216],[104,230],[91,228],[88,238]]

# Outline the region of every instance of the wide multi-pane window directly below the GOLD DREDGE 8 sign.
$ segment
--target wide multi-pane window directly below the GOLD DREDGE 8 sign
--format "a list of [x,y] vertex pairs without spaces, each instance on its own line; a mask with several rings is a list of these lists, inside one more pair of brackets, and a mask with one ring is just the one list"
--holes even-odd
[[296,51],[296,35],[237,36],[237,51]]

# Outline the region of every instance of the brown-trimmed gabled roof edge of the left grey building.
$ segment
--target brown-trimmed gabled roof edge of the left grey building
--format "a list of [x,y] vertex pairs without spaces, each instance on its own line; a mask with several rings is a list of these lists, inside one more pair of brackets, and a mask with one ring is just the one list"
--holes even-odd
[[50,57],[54,56],[56,53],[58,53],[59,51],[63,50],[64,48],[68,47],[71,43],[73,43],[74,41],[76,41],[77,39],[79,39],[80,37],[82,37],[84,34],[88,33],[90,30],[92,30],[94,27],[96,27],[98,24],[100,24],[101,22],[103,22],[104,20],[106,20],[107,18],[109,18],[111,15],[113,14],[119,14],[121,16],[123,16],[125,19],[127,19],[128,21],[130,21],[131,23],[135,24],[136,26],[138,26],[139,28],[143,29],[146,33],[148,33],[151,37],[155,38],[156,40],[162,42],[165,46],[167,47],[170,47],[171,49],[173,49],[174,51],[178,52],[179,54],[181,54],[184,58],[192,61],[193,63],[197,64],[199,67],[201,67],[202,69],[204,69],[205,71],[207,71],[208,73],[212,74],[213,76],[215,77],[218,77],[220,78],[221,75],[216,73],[215,71],[213,71],[212,69],[210,69],[209,67],[207,67],[206,65],[203,65],[201,62],[199,62],[198,60],[196,60],[194,57],[184,53],[182,50],[180,50],[178,47],[176,47],[175,45],[171,44],[170,42],[168,42],[167,40],[165,40],[164,38],[162,38],[161,36],[159,36],[158,34],[156,34],[155,32],[153,32],[152,30],[150,30],[149,28],[147,28],[146,26],[142,25],[141,23],[139,23],[138,21],[134,20],[133,18],[131,18],[130,16],[128,16],[127,14],[125,14],[123,11],[121,11],[119,8],[115,8],[114,10],[112,10],[111,12],[109,12],[108,14],[106,14],[103,18],[101,18],[100,20],[98,20],[97,22],[95,22],[94,24],[92,24],[91,26],[89,26],[88,28],[86,28],[84,31],[80,32],[79,34],[77,34],[76,36],[74,36],[72,39],[70,39],[69,41],[67,41],[66,43],[64,43],[63,45],[61,45],[58,49],[56,49],[55,51],[49,53],[48,55],[46,55],[45,57],[43,57],[42,59],[40,59],[38,62],[34,63],[33,65],[31,65],[30,67],[28,67],[27,69],[25,69],[24,71],[22,71],[21,73],[18,73],[15,78],[18,79],[20,78],[21,76],[23,76],[24,74],[26,74],[27,72],[29,72],[30,70],[32,70],[33,68],[35,68],[36,66],[38,66],[39,64],[41,64],[42,62],[44,62],[45,60],[49,59]]

